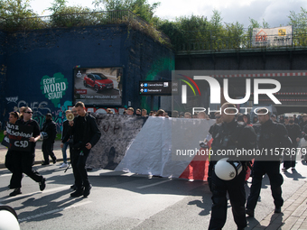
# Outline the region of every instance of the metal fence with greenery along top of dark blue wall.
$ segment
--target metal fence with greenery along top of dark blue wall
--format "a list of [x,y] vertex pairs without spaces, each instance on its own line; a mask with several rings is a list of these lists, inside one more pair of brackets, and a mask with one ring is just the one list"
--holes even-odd
[[52,14],[30,18],[0,18],[0,29],[8,32],[67,28],[103,24],[128,24],[131,28],[147,33],[155,40],[170,43],[170,39],[131,11],[103,11],[74,14]]

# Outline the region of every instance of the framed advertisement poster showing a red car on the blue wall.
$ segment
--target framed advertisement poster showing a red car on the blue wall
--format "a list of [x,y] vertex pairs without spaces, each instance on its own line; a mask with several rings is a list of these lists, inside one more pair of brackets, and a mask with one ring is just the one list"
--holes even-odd
[[75,68],[74,99],[85,105],[121,106],[123,68]]

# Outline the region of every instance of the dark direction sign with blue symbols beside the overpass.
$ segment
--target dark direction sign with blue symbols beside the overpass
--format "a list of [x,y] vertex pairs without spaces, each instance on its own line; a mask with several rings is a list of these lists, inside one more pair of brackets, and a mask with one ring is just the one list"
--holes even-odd
[[139,93],[142,96],[172,96],[172,94],[178,94],[178,88],[178,81],[172,80],[139,82]]

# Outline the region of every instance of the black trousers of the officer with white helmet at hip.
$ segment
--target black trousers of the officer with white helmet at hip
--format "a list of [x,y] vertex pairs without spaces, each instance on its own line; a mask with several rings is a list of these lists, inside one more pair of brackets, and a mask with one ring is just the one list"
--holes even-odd
[[244,228],[247,226],[245,212],[246,192],[244,188],[245,176],[246,171],[242,170],[235,179],[223,180],[219,179],[213,170],[211,184],[211,199],[213,204],[211,207],[209,229],[222,229],[226,223],[227,192],[237,228]]

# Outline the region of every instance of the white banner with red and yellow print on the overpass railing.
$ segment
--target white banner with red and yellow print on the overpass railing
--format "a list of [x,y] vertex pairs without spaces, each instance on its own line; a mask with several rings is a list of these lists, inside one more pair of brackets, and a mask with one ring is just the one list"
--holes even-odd
[[292,46],[292,43],[292,26],[253,29],[252,45],[254,47]]

